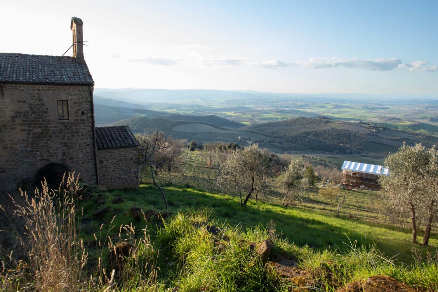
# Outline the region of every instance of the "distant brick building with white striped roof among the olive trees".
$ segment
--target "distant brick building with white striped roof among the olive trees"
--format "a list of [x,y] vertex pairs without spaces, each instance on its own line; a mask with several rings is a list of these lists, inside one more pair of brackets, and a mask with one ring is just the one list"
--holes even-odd
[[389,169],[381,165],[344,161],[342,165],[342,186],[380,190],[379,176],[389,176]]

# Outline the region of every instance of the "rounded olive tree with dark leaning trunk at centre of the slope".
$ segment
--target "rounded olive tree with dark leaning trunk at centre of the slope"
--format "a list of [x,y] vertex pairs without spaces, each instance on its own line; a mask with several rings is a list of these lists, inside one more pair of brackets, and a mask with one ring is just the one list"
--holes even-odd
[[217,184],[232,187],[240,196],[240,205],[245,206],[251,195],[262,192],[268,187],[272,176],[270,155],[252,144],[243,150],[231,151],[220,165]]

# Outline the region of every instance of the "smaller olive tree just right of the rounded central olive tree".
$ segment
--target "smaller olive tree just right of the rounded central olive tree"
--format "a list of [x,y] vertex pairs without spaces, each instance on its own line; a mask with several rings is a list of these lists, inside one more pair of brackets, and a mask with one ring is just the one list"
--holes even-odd
[[309,179],[306,177],[306,169],[300,160],[293,160],[280,173],[276,179],[277,186],[283,193],[283,206],[289,206],[292,201],[302,197],[304,190],[309,186]]

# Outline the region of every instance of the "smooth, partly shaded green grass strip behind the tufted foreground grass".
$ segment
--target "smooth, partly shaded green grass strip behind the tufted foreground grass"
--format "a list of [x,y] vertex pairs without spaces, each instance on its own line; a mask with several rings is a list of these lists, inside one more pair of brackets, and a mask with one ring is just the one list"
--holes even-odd
[[[418,246],[410,243],[410,231],[397,229],[392,226],[368,223],[362,220],[348,217],[336,218],[333,215],[321,214],[318,210],[306,210],[299,208],[286,208],[278,204],[249,201],[246,207],[240,207],[236,197],[216,195],[209,192],[194,190],[192,188],[166,186],[166,196],[170,204],[170,211],[176,214],[185,208],[212,208],[214,217],[218,222],[230,226],[241,226],[243,230],[252,229],[254,226],[266,226],[270,219],[277,225],[277,230],[282,232],[290,242],[297,246],[310,246],[316,250],[324,248],[346,248],[345,242],[358,240],[359,243],[376,243],[379,250],[388,257],[395,257],[397,261],[410,263],[411,248],[416,246],[426,251],[434,251],[438,248],[438,236],[433,235],[430,246]],[[123,204],[111,204],[115,197],[124,198]],[[132,221],[130,215],[125,214],[135,206],[143,210],[155,209],[165,211],[162,197],[159,191],[152,185],[143,185],[132,190],[113,190],[105,198],[105,206],[109,207],[106,215],[99,219],[86,223],[82,227],[85,242],[92,241],[93,233],[99,235],[100,224],[108,228],[109,222],[114,226],[129,224]],[[84,201],[85,217],[92,217],[91,213],[98,208],[93,201]],[[140,227],[140,226],[139,226]],[[109,232],[109,236],[116,236],[118,228]],[[106,232],[104,229],[104,237]],[[420,235],[421,236],[421,235]]]

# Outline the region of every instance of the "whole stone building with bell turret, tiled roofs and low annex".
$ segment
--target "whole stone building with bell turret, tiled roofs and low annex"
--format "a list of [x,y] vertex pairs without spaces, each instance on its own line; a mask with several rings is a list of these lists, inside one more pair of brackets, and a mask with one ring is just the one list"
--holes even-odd
[[86,183],[138,186],[139,144],[129,127],[95,127],[82,25],[71,19],[72,57],[0,53],[0,186],[49,163]]

